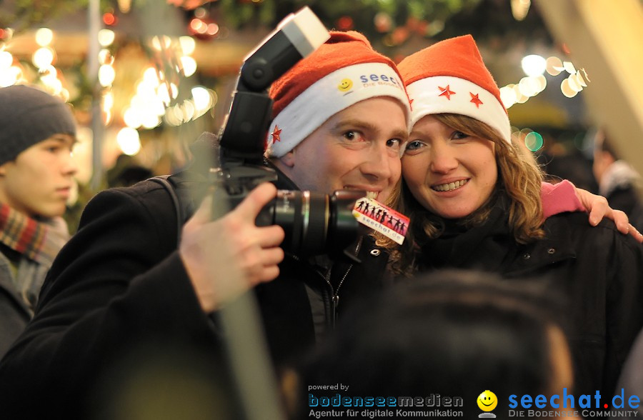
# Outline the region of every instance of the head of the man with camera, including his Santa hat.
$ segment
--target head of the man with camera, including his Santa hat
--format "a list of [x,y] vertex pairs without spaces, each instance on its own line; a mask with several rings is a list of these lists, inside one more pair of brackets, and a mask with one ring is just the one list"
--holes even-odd
[[299,189],[365,189],[399,179],[409,102],[395,64],[358,32],[330,39],[276,80],[266,156]]

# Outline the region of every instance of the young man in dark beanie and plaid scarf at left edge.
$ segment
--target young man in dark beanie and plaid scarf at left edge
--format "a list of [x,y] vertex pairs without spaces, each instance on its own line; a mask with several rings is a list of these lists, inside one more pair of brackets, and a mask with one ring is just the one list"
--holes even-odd
[[76,124],[61,99],[0,88],[0,356],[31,318],[44,276],[69,239]]

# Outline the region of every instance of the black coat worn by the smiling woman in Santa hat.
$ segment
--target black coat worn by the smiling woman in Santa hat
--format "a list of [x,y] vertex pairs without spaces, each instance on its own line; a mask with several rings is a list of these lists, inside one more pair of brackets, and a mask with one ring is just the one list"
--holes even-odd
[[612,221],[592,227],[587,214],[562,213],[544,223],[545,239],[521,245],[496,208],[484,226],[431,241],[423,270],[482,269],[512,281],[538,281],[567,304],[577,394],[613,396],[634,338],[643,326],[643,246]]

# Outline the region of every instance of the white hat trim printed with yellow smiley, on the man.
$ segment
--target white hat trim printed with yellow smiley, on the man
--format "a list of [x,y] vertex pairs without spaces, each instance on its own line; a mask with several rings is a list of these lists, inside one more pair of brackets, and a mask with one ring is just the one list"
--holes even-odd
[[398,99],[407,109],[409,122],[404,84],[390,66],[364,63],[333,71],[301,92],[275,117],[268,131],[269,156],[284,156],[334,114],[377,96]]

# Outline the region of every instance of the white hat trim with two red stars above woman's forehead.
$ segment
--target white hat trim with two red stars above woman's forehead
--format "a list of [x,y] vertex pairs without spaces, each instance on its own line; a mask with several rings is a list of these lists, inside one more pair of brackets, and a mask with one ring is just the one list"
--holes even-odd
[[409,84],[407,92],[411,100],[411,126],[429,114],[462,114],[489,124],[503,139],[512,141],[504,106],[496,96],[471,81],[452,76],[427,77]]

